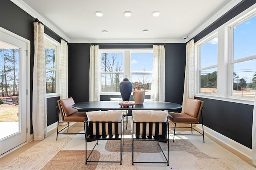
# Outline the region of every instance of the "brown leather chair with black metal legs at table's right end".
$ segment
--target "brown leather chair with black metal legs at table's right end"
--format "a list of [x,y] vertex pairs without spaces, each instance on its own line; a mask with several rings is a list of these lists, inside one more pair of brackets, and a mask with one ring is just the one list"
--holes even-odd
[[[168,113],[168,119],[174,123],[174,134],[173,134],[173,142],[175,135],[202,135],[204,140],[204,123],[203,123],[203,115],[202,115],[202,108],[203,101],[188,98],[185,104],[184,113]],[[202,118],[202,123],[198,122],[199,118]],[[178,128],[191,128],[191,134],[175,134],[176,124],[177,123],[189,123],[190,127],[178,127]],[[202,133],[192,127],[193,124],[202,124]],[[198,133],[193,134],[193,129]]]

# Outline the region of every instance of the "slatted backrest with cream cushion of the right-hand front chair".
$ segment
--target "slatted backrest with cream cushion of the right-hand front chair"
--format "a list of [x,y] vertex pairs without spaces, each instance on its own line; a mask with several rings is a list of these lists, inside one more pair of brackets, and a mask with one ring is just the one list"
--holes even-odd
[[[163,122],[166,123],[167,115],[168,115],[167,110],[164,110],[164,111],[132,110],[132,122],[131,122],[132,131],[134,134],[138,133],[136,132],[136,130],[138,131],[138,129],[136,129],[136,122],[137,123],[141,122],[139,126],[140,135],[146,134],[148,136],[151,133],[152,135],[156,135],[156,133],[158,133],[158,135],[162,135],[162,123]],[[142,123],[142,122],[146,122],[146,123]],[[150,127],[151,125],[149,122],[153,122],[152,129]],[[156,123],[160,123],[159,127],[156,127]],[[143,124],[144,124],[144,127],[143,127]],[[146,129],[146,132],[144,131],[144,129]],[[158,129],[158,132],[157,132],[157,129]]]

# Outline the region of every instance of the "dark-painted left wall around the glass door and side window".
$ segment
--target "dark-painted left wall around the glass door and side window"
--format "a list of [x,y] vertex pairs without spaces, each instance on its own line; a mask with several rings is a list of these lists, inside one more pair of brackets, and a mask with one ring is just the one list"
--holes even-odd
[[[24,12],[10,0],[1,0],[0,2],[0,27],[7,29],[25,39],[30,40],[30,134],[33,133],[32,127],[32,90],[33,90],[33,65],[34,65],[34,27],[35,18]],[[60,42],[60,36],[53,33],[50,29],[44,27],[44,33]],[[58,112],[56,111],[58,98],[47,99],[47,125],[58,121]],[[50,104],[50,105],[49,105]]]

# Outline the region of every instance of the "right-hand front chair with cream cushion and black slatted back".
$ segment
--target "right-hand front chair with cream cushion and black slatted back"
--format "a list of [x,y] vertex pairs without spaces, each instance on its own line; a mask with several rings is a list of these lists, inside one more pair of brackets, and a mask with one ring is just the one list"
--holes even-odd
[[[168,111],[157,110],[132,110],[132,165],[134,163],[162,163],[169,166],[169,122],[167,121]],[[162,150],[165,161],[140,162],[134,160],[134,141],[157,141]],[[167,156],[159,142],[167,143]]]

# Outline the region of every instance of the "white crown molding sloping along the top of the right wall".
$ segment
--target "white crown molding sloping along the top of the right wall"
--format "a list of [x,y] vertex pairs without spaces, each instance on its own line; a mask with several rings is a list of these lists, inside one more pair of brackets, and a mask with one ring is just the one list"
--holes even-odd
[[209,20],[204,22],[198,29],[196,29],[193,33],[191,33],[187,41],[195,37],[198,33],[203,31],[205,28],[207,28],[209,25],[211,25],[214,21],[218,20],[221,16],[226,14],[229,10],[234,8],[237,4],[239,4],[242,0],[232,0],[228,4],[226,4],[223,8],[221,8],[216,14],[214,14]]

